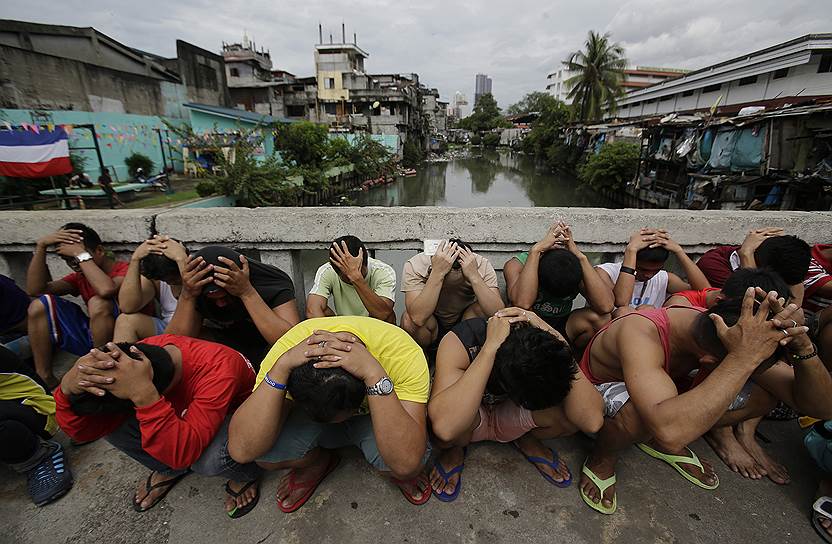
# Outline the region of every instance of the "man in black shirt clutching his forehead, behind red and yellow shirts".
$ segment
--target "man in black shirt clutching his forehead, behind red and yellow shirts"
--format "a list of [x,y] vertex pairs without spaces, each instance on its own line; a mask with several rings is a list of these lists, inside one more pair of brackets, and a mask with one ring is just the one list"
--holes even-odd
[[165,332],[214,340],[256,363],[299,321],[286,273],[232,249],[208,246],[188,257],[176,313]]

